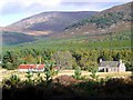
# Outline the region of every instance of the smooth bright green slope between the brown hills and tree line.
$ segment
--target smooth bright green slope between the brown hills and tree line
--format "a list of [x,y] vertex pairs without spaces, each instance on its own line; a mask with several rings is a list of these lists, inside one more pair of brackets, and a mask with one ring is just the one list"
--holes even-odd
[[[99,37],[102,37],[101,39]],[[21,44],[3,46],[4,50],[21,50],[21,49],[52,49],[52,50],[74,50],[74,49],[131,49],[131,31],[122,31],[112,36],[95,34],[92,37],[76,36],[71,38],[43,38],[34,42],[27,42]]]

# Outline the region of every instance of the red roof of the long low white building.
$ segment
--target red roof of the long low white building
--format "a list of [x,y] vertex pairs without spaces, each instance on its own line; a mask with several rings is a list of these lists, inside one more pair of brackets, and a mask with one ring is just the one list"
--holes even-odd
[[43,69],[44,64],[20,64],[18,69]]

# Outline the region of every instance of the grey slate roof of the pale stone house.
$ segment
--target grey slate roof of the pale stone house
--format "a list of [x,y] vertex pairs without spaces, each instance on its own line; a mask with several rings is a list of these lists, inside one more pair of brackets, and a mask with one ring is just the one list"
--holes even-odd
[[100,67],[119,67],[119,61],[102,61]]

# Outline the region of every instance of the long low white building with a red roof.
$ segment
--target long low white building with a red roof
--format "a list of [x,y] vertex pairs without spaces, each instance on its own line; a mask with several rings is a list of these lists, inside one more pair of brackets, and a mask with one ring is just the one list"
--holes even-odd
[[44,71],[44,64],[20,64],[18,70],[20,72],[28,72],[28,71],[42,72]]

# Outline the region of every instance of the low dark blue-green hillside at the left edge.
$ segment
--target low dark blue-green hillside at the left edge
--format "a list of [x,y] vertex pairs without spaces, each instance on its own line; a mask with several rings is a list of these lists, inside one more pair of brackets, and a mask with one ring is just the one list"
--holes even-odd
[[38,38],[33,36],[29,36],[19,31],[17,32],[9,28],[0,28],[0,41],[2,42],[2,46],[19,44],[35,40],[38,40]]

